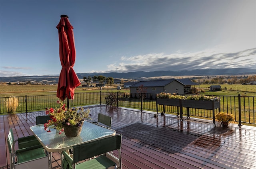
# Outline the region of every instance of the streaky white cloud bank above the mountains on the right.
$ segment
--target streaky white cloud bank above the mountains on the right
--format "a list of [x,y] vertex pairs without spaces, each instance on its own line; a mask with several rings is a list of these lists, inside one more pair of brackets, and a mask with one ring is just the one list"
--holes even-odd
[[220,52],[221,50],[206,49],[195,53],[172,54],[151,53],[132,57],[121,57],[118,64],[108,65],[107,72],[134,72],[159,70],[192,70],[209,68],[256,68],[256,48],[242,51]]

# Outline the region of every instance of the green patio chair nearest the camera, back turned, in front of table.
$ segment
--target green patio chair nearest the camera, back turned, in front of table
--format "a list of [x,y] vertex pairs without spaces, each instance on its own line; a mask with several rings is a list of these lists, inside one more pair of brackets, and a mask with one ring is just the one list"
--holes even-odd
[[[108,167],[114,166],[116,168],[122,168],[122,157],[121,157],[121,142],[122,134],[103,138],[100,140],[76,145],[73,147],[73,159],[62,151],[63,169],[107,169]],[[113,150],[118,150],[118,158],[108,153]],[[107,154],[108,156],[104,155]],[[117,161],[113,161],[114,158],[109,158],[110,155],[114,156]],[[98,156],[94,159],[78,163],[79,161],[89,159],[90,157]],[[78,163],[78,164],[76,164]]]

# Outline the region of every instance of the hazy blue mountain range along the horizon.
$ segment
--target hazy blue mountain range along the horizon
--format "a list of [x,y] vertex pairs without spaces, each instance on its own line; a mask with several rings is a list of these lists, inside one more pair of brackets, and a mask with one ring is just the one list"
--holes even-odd
[[[163,76],[214,76],[214,75],[256,75],[256,69],[247,68],[230,68],[230,69],[194,69],[184,71],[136,71],[128,73],[77,73],[79,79],[84,77],[102,75],[104,77],[113,77],[114,79],[134,79],[141,81],[145,78]],[[52,81],[58,82],[59,75],[44,75],[44,76],[16,76],[16,77],[0,77],[0,82],[18,82],[18,81]]]

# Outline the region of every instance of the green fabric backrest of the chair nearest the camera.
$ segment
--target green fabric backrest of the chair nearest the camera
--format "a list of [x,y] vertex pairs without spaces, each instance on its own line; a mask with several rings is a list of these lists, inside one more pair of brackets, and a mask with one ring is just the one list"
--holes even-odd
[[121,152],[122,134],[76,145],[73,147],[73,164],[96,155],[118,149]]

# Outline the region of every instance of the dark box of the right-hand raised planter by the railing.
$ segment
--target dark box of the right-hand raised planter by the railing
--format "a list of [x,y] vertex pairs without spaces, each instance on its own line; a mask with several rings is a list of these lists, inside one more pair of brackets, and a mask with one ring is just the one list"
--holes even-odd
[[213,110],[220,108],[220,102],[204,100],[182,100],[182,107]]

